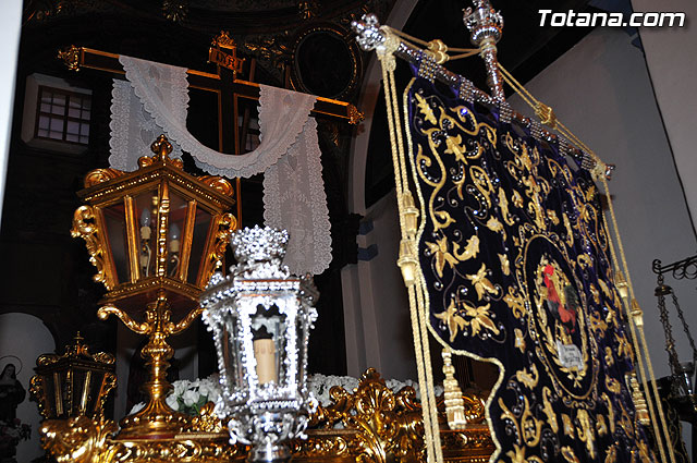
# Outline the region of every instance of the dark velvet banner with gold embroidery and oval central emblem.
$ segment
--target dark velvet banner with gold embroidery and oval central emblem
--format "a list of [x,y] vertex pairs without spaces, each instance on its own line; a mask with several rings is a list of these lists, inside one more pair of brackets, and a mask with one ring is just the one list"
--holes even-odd
[[405,98],[430,328],[501,370],[492,461],[653,461],[590,174],[426,80]]

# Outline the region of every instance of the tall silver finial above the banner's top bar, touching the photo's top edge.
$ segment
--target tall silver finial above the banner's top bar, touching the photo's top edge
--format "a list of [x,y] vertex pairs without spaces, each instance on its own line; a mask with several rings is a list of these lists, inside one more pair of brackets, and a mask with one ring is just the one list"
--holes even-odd
[[503,101],[503,80],[498,66],[497,42],[503,32],[503,17],[493,10],[489,0],[473,0],[474,10],[464,10],[463,22],[469,29],[472,44],[481,49],[481,58],[487,66],[487,84],[491,96]]

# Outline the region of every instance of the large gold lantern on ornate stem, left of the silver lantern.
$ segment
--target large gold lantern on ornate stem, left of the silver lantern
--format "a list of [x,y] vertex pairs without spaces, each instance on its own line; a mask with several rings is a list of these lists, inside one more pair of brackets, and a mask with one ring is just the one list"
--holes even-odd
[[[139,169],[122,172],[97,169],[85,178],[78,195],[87,203],[73,218],[73,236],[85,240],[95,281],[107,293],[97,315],[119,317],[148,336],[143,356],[150,368],[144,385],[149,402],[121,421],[121,437],[168,436],[180,432],[183,415],[164,398],[173,355],[167,338],[185,330],[201,313],[198,297],[213,270],[222,265],[230,234],[233,186],[219,176],[192,176],[172,145],[160,135],[155,156],[138,159]],[[175,321],[176,320],[176,321]]]

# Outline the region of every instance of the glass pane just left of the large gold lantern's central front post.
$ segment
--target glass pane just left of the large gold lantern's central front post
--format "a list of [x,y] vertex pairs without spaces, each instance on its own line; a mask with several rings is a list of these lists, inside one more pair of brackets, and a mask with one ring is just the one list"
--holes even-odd
[[136,231],[138,234],[138,258],[140,278],[155,275],[157,249],[157,207],[158,194],[156,190],[140,193],[135,198]]

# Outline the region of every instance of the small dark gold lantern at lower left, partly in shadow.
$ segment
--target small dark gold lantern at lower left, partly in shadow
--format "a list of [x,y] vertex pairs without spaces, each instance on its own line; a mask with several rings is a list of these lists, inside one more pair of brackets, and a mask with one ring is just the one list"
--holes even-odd
[[99,418],[109,392],[117,386],[114,357],[90,354],[80,332],[63,355],[42,354],[36,361],[29,392],[45,419]]

